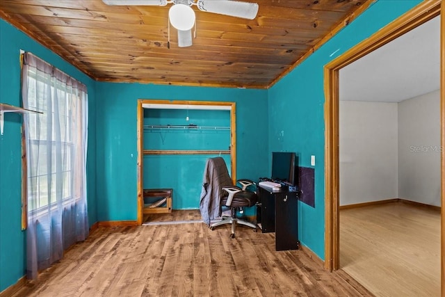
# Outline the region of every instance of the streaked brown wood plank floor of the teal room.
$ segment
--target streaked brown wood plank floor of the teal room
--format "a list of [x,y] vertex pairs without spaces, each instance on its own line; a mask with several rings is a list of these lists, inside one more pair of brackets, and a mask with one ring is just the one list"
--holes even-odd
[[99,227],[15,296],[372,296],[273,233],[204,223]]

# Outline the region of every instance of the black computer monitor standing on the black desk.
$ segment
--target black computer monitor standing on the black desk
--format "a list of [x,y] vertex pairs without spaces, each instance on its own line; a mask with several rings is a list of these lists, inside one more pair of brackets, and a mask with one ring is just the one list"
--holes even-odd
[[289,186],[296,186],[294,152],[272,152],[271,178]]

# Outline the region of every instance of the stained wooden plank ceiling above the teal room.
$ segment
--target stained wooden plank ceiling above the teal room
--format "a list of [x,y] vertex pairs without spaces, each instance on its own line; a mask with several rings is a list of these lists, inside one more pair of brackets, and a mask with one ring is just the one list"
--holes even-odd
[[170,49],[172,4],[1,0],[0,17],[97,81],[269,88],[370,0],[246,1],[259,4],[253,20],[193,6],[193,45],[177,47],[170,27]]

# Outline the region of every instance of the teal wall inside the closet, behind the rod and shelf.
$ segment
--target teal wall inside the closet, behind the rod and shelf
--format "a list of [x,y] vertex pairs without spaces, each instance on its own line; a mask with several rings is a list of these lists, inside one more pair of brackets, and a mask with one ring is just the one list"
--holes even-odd
[[[230,148],[230,111],[193,110],[193,107],[169,110],[145,109],[144,123],[154,126],[186,127],[186,129],[175,129],[175,127],[144,129],[146,150],[222,151]],[[204,127],[227,129],[200,129]],[[200,206],[205,163],[212,156],[219,154],[145,155],[143,188],[172,188],[173,209],[197,209]],[[230,174],[230,155],[221,156],[225,159]]]

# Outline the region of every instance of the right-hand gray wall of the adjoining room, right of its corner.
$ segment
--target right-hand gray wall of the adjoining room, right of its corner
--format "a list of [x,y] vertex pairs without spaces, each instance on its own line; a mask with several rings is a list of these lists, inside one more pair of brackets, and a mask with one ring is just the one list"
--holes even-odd
[[439,90],[398,104],[398,197],[441,204]]

